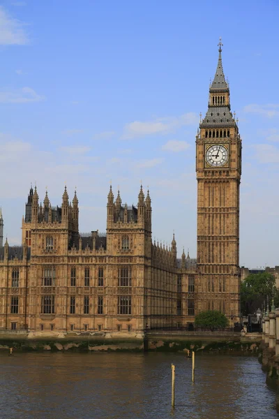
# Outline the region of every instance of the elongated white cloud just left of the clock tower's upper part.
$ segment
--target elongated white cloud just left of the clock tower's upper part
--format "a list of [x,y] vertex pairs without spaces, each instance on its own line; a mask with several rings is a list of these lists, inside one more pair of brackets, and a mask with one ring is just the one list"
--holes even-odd
[[157,118],[149,122],[130,122],[123,130],[123,139],[134,138],[157,133],[169,133],[181,126],[198,124],[199,119],[194,112],[188,112],[179,117]]

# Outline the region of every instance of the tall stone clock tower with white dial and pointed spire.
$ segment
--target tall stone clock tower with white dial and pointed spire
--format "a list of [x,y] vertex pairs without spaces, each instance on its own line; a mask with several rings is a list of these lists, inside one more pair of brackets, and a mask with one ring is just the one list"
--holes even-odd
[[220,41],[209,108],[196,138],[197,312],[222,311],[232,324],[240,312],[241,138],[231,112],[222,46]]

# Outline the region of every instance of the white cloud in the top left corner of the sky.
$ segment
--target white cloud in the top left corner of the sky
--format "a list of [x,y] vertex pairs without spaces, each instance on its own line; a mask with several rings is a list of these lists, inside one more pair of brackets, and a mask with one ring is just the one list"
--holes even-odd
[[0,6],[0,45],[26,45],[29,43],[24,23],[14,19]]

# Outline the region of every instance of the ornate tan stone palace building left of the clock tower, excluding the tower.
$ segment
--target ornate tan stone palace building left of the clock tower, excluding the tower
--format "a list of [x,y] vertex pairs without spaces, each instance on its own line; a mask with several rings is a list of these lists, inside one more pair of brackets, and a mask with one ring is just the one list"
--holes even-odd
[[65,188],[52,207],[30,189],[22,247],[0,249],[1,329],[139,333],[193,321],[195,260],[177,260],[174,236],[171,247],[152,242],[149,191],[135,207],[110,187],[105,234],[78,224],[76,193],[70,203]]

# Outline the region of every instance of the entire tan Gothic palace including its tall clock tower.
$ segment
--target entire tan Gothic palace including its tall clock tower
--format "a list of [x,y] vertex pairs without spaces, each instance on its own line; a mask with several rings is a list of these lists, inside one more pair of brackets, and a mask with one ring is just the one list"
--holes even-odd
[[107,231],[79,233],[77,194],[61,207],[31,187],[22,246],[3,244],[0,213],[0,330],[142,334],[187,328],[203,310],[240,312],[241,138],[229,103],[222,44],[209,105],[196,136],[197,259],[151,239],[151,198],[123,205],[112,186]]

